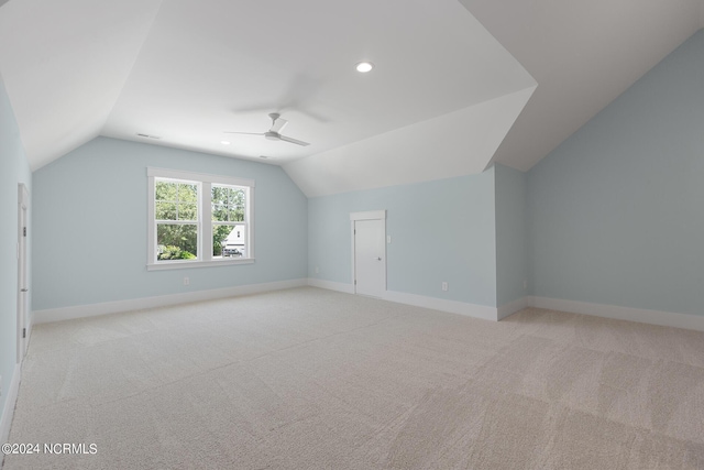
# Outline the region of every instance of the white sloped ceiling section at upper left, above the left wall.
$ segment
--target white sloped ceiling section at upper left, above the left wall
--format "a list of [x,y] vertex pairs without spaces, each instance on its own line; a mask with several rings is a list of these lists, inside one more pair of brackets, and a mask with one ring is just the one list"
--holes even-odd
[[12,0],[0,73],[32,170],[96,138],[162,0]]

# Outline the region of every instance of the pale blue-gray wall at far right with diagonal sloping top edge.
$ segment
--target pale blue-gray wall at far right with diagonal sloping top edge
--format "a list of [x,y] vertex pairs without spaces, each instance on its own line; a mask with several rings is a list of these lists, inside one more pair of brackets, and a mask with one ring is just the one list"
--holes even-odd
[[704,32],[528,181],[532,294],[704,315]]

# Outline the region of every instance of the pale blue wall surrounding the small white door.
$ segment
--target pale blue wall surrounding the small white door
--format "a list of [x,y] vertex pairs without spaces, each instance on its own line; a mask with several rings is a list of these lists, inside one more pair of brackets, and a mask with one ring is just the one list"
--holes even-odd
[[492,167],[480,175],[310,198],[309,277],[351,284],[350,212],[386,209],[388,291],[494,307],[494,197]]

